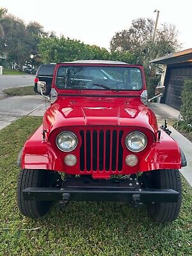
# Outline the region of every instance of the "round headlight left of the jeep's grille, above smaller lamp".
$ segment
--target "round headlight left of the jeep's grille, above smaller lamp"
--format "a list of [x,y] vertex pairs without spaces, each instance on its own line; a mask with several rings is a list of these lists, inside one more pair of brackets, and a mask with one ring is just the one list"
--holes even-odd
[[72,132],[61,132],[56,138],[56,145],[64,152],[70,152],[77,147],[77,137]]

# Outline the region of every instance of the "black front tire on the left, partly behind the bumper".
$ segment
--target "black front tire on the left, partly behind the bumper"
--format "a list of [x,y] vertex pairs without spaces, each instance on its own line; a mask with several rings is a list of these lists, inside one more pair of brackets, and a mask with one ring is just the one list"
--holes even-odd
[[52,205],[51,201],[24,200],[22,191],[25,188],[49,187],[49,180],[54,175],[58,179],[58,173],[49,170],[20,170],[17,180],[17,204],[19,211],[29,218],[40,218],[44,216]]

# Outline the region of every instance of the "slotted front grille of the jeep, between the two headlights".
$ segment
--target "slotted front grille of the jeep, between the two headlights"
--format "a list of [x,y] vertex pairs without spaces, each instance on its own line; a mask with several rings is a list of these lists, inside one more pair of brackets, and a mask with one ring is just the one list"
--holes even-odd
[[123,161],[123,131],[80,131],[80,170],[121,171]]

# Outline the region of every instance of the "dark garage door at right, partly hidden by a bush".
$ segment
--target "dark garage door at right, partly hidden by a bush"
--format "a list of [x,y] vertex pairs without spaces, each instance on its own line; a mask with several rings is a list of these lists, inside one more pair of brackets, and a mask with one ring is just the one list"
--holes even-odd
[[186,79],[192,79],[192,67],[170,68],[165,104],[180,109],[182,86]]

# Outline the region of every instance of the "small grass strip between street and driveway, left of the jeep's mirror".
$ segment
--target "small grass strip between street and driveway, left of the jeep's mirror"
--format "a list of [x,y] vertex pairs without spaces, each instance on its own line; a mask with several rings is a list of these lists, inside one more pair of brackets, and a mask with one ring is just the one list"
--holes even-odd
[[3,90],[4,93],[10,96],[24,96],[24,95],[36,95],[33,90],[32,86],[22,86],[22,87],[15,87],[15,88],[8,88]]

